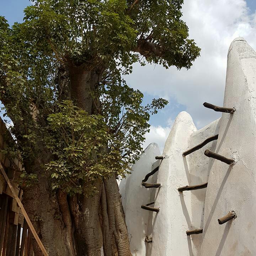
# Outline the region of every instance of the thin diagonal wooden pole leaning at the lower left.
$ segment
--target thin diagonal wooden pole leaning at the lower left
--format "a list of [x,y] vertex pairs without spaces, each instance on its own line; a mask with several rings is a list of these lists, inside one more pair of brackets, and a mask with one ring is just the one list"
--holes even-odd
[[38,235],[36,233],[36,230],[34,229],[32,223],[30,221],[30,218],[28,217],[28,215],[26,213],[26,210],[25,210],[25,208],[23,207],[23,204],[20,201],[20,198],[18,198],[18,196],[17,196],[17,194],[16,194],[16,192],[14,190],[14,187],[11,185],[11,182],[10,182],[10,180],[9,180],[9,178],[8,178],[8,176],[7,176],[7,174],[6,174],[5,170],[4,170],[4,167],[2,166],[1,162],[0,162],[0,169],[1,169],[2,175],[4,175],[4,178],[5,178],[8,186],[10,187],[10,190],[11,190],[15,200],[18,203],[18,206],[21,208],[21,212],[24,215],[24,218],[26,219],[26,222],[27,222],[28,226],[30,227],[30,230],[31,230],[34,238],[36,239],[37,244],[39,245],[40,249],[42,250],[44,256],[49,256],[47,251],[46,251],[46,249],[44,248],[41,240],[39,239],[39,237],[38,237]]

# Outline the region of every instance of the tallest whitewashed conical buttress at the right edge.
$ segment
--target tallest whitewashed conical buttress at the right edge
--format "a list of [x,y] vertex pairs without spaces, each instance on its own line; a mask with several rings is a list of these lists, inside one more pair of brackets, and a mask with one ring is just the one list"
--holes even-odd
[[[202,255],[256,255],[256,53],[236,38],[228,53],[223,113],[215,152],[235,165],[214,160],[204,211]],[[238,218],[223,225],[217,219],[234,210]]]

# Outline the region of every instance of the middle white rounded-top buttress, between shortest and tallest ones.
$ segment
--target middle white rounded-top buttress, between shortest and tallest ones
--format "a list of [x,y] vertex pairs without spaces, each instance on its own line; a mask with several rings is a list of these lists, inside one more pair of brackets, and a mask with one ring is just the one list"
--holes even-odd
[[166,140],[165,159],[160,163],[157,183],[162,187],[156,193],[153,244],[154,256],[188,255],[186,230],[191,224],[190,195],[183,197],[177,188],[188,183],[188,170],[182,152],[188,148],[188,138],[196,130],[191,116],[181,112]]

